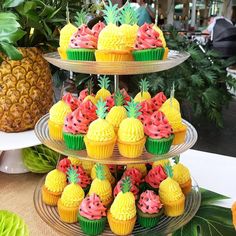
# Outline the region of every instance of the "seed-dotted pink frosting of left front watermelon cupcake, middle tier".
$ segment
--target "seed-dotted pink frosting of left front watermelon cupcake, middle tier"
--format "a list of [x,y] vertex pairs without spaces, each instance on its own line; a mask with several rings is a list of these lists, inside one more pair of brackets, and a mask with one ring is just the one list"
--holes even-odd
[[78,108],[67,115],[63,131],[71,134],[86,134],[90,122]]

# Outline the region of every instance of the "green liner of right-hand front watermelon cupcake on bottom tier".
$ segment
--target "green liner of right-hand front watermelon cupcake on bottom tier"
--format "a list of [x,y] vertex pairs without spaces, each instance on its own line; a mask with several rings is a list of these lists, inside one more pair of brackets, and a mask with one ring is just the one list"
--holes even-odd
[[148,214],[138,209],[138,223],[144,228],[152,228],[158,224],[162,213],[163,210],[157,214]]

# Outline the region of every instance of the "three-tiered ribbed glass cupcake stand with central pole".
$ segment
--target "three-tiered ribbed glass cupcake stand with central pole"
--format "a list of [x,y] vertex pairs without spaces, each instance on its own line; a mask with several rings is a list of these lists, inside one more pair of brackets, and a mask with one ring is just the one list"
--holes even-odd
[[[95,62],[95,61],[70,61],[60,59],[58,53],[48,53],[44,58],[51,64],[65,70],[85,74],[99,74],[99,75],[114,75],[115,91],[119,88],[119,75],[129,74],[145,74],[173,68],[189,57],[186,52],[178,52],[170,50],[168,58],[162,61],[149,62]],[[195,128],[183,120],[187,125],[187,135],[185,142],[181,145],[171,147],[170,151],[165,155],[151,155],[145,150],[139,158],[130,159],[124,158],[119,154],[118,148],[115,147],[113,156],[110,159],[92,159],[87,156],[85,151],[73,151],[66,148],[64,141],[56,141],[50,138],[48,132],[49,114],[43,116],[35,126],[35,133],[38,139],[49,148],[64,154],[66,156],[78,157],[81,160],[100,162],[104,164],[126,165],[128,163],[147,163],[156,160],[171,158],[191,148],[197,141],[197,132]],[[42,179],[35,189],[34,205],[40,217],[50,226],[63,235],[84,235],[80,229],[79,224],[66,224],[59,219],[56,207],[50,207],[42,202],[41,187],[44,183]],[[162,216],[159,224],[151,229],[142,228],[136,223],[132,235],[167,235],[174,232],[178,228],[187,224],[196,214],[201,202],[201,194],[199,187],[194,179],[192,179],[192,191],[186,196],[185,212],[179,217]],[[102,235],[113,235],[109,227]]]

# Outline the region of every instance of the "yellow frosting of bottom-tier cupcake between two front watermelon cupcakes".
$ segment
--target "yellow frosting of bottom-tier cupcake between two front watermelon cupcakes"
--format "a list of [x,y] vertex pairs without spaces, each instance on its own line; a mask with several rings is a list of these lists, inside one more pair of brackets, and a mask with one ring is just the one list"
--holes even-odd
[[136,207],[133,193],[119,192],[111,205],[110,212],[117,220],[130,220],[135,217]]

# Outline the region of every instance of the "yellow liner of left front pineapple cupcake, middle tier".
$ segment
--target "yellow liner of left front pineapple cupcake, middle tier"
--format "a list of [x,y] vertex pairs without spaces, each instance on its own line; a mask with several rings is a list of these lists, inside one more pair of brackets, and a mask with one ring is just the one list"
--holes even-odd
[[113,154],[116,137],[110,141],[98,142],[88,139],[87,135],[85,135],[84,142],[89,157],[95,159],[107,159]]

